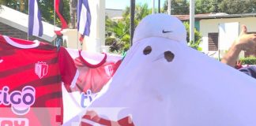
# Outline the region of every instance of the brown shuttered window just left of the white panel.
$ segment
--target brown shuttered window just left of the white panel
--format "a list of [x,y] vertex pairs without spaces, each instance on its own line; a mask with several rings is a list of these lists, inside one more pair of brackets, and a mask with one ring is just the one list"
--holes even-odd
[[218,50],[219,33],[208,33],[208,50]]

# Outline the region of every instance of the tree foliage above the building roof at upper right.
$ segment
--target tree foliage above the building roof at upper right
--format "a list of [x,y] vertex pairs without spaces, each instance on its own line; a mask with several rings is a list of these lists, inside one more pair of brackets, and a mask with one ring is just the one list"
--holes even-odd
[[[189,14],[190,1],[171,0],[171,14]],[[168,0],[164,12],[168,11]],[[195,13],[256,13],[256,0],[196,0]]]

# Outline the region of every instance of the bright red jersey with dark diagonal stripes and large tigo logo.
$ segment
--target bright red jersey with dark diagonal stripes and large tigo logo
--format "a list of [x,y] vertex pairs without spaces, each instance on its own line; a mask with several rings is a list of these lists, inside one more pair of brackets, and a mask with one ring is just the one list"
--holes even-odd
[[60,69],[68,65],[58,61],[69,58],[47,43],[0,35],[0,125],[61,125]]

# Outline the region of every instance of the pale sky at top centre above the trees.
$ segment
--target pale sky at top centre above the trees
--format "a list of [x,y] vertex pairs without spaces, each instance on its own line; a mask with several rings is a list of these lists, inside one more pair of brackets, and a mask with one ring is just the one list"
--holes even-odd
[[[161,6],[165,0],[161,0]],[[145,4],[152,6],[152,0],[136,0],[136,4]],[[130,0],[106,0],[106,9],[125,9],[126,6],[130,6]],[[155,0],[155,6],[158,6],[158,0]]]

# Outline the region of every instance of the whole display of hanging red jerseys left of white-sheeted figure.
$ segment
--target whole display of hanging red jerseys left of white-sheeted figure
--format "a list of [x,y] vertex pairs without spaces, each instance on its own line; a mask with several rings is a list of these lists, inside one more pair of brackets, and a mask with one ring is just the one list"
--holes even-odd
[[121,59],[0,35],[0,123],[80,124]]

